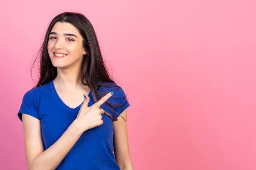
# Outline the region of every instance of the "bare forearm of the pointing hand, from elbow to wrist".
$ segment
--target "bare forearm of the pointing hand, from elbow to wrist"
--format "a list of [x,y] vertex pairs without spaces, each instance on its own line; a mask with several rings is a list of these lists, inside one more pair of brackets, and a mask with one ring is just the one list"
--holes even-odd
[[54,170],[82,134],[83,132],[77,126],[76,120],[73,121],[52,146],[34,158],[29,170]]

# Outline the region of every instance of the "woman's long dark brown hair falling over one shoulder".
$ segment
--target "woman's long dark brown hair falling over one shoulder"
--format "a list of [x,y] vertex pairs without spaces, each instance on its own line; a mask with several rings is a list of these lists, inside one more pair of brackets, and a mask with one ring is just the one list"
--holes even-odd
[[[47,51],[49,33],[56,22],[67,22],[72,24],[73,26],[76,27],[76,29],[78,29],[79,33],[83,38],[82,45],[83,45],[83,48],[86,50],[86,54],[83,55],[81,82],[84,85],[87,85],[91,89],[94,102],[97,102],[98,101],[97,99],[101,99],[101,97],[103,97],[104,95],[110,92],[110,91],[99,92],[98,90],[100,87],[106,87],[106,88],[115,87],[114,92],[117,91],[119,88],[121,88],[110,78],[110,75],[106,69],[106,65],[103,62],[101,50],[99,47],[99,42],[97,40],[97,36],[95,34],[95,31],[91,22],[83,14],[72,13],[72,12],[61,13],[56,17],[54,17],[52,22],[50,22],[47,32],[45,34],[45,39],[43,41],[43,44],[38,51],[38,55],[40,53],[40,67],[38,70],[39,80],[36,86],[34,86],[33,88],[47,84],[48,82],[52,81],[57,77],[57,68],[52,65],[52,62],[50,60],[50,57]],[[38,58],[38,55],[34,60],[32,68]],[[32,77],[32,68],[31,68],[31,77]],[[106,84],[103,82],[109,82],[109,83]],[[116,96],[113,95],[112,97],[116,97]],[[118,99],[120,98],[121,100],[123,100],[124,98],[127,99],[126,94],[124,94],[124,97],[118,97]],[[104,104],[106,104],[106,106],[110,110],[117,113],[115,110],[113,110],[109,106],[119,108],[124,106],[126,103],[123,105],[120,105],[120,104],[114,104],[112,102],[105,102]],[[107,113],[105,110],[104,110],[104,114],[112,117],[115,121],[117,120],[117,118]],[[122,118],[124,119],[124,117]]]

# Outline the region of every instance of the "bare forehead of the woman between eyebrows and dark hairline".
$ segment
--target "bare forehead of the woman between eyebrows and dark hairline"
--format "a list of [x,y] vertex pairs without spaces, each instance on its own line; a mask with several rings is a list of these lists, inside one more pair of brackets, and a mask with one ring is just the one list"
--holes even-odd
[[67,22],[56,22],[52,27],[51,32],[56,32],[58,35],[63,35],[63,33],[72,33],[75,34],[78,38],[81,37],[76,27]]

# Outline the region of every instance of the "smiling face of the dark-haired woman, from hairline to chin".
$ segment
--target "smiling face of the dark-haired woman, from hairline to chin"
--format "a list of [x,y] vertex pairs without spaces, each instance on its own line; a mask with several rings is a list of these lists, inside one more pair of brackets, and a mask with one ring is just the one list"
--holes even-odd
[[[64,35],[69,34],[69,35]],[[73,34],[73,35],[70,35]],[[86,53],[82,46],[82,36],[70,23],[56,22],[49,34],[47,50],[52,65],[57,68],[78,67]],[[54,55],[55,52],[66,54],[65,57]]]

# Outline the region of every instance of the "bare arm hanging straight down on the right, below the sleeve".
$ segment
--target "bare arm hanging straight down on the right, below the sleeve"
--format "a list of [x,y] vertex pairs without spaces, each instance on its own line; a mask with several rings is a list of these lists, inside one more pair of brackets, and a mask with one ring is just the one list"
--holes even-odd
[[121,170],[133,170],[132,162],[130,159],[129,145],[128,145],[128,134],[127,134],[127,109],[121,114],[126,121],[119,117],[117,121],[113,121],[114,130],[114,152],[117,164]]

